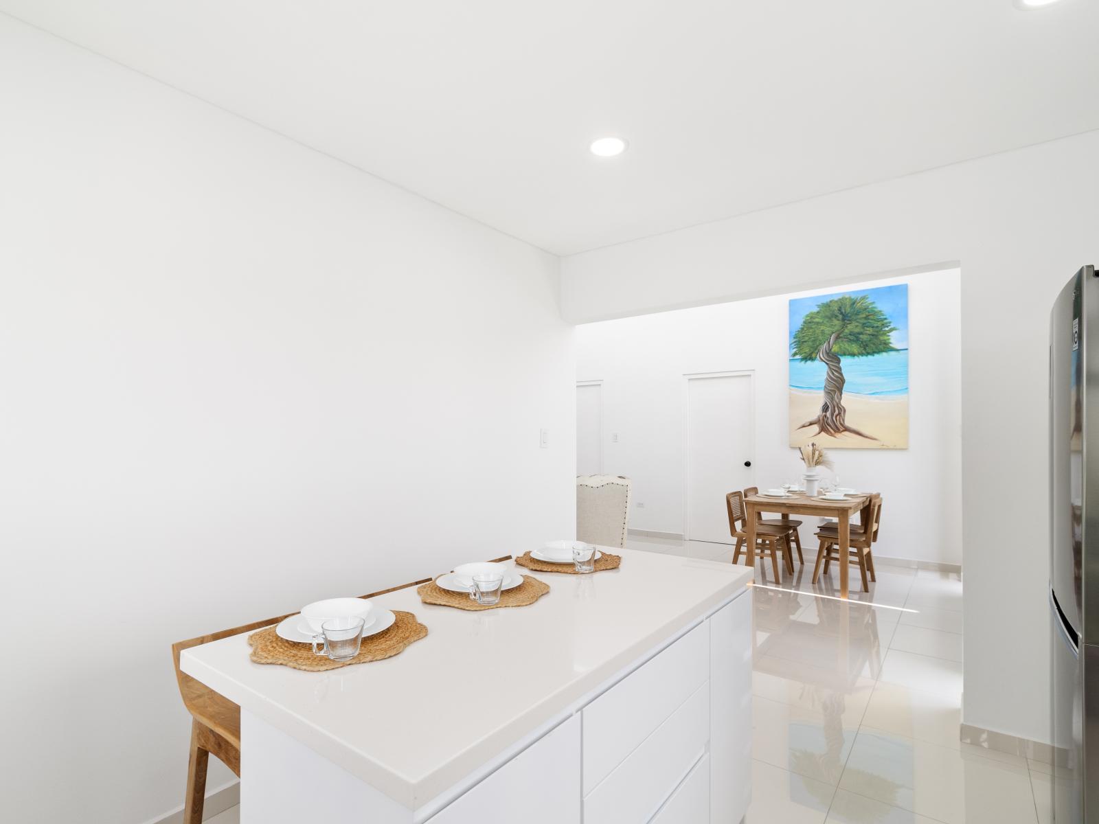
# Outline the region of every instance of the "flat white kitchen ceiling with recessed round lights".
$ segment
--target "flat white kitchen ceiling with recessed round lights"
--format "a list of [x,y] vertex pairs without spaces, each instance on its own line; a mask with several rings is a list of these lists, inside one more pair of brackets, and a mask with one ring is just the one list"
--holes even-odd
[[1099,129],[1092,0],[0,10],[558,254]]

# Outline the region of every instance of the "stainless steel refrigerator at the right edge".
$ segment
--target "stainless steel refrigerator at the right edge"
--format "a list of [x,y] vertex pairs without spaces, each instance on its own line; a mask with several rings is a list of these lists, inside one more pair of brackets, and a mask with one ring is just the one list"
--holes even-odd
[[1053,812],[1099,824],[1099,277],[1062,289],[1050,330]]

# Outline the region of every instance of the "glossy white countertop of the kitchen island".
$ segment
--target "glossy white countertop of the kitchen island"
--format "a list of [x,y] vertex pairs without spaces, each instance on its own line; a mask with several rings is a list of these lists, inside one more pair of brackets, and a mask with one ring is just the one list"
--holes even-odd
[[518,567],[551,587],[531,606],[467,612],[421,603],[415,588],[374,599],[415,613],[429,630],[384,661],[328,672],[253,664],[246,636],[237,635],[184,650],[180,665],[415,810],[752,579],[743,566],[609,552],[623,556],[621,568],[578,576]]

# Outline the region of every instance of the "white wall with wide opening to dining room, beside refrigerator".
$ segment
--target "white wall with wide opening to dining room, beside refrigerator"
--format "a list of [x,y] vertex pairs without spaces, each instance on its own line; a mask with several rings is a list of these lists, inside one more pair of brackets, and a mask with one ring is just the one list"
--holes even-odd
[[1099,259],[1097,158],[1089,132],[562,260],[578,323],[961,261],[963,715],[1041,741],[1048,311]]

